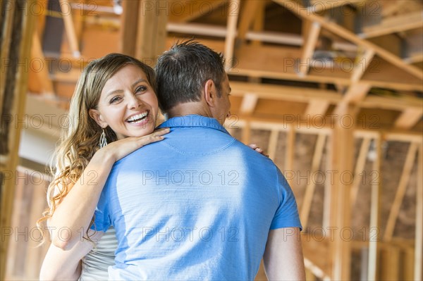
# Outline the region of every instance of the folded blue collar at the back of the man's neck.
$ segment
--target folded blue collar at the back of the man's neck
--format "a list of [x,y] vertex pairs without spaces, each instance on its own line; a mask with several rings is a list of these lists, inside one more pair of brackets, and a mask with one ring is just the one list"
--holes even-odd
[[230,135],[218,120],[196,114],[170,118],[161,123],[161,127],[210,127]]

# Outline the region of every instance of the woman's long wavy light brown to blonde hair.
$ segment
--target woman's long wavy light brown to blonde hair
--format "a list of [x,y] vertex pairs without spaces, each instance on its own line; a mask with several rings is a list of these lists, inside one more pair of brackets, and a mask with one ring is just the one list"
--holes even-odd
[[[135,58],[123,54],[109,54],[91,61],[83,70],[73,93],[68,112],[68,127],[61,133],[56,159],[51,163],[53,180],[47,188],[47,209],[37,220],[39,230],[44,234],[44,223],[53,216],[56,207],[80,178],[92,156],[99,149],[102,127],[90,117],[89,110],[97,108],[106,82],[125,65],[135,65],[146,75],[149,85],[156,90],[154,70]],[[110,127],[104,129],[107,142],[116,141],[116,134]],[[92,222],[91,222],[92,224]]]

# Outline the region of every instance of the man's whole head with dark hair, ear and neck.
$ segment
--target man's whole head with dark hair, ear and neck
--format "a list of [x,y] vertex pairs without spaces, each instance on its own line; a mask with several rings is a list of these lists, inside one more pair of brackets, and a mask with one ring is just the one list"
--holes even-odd
[[223,62],[221,54],[198,42],[173,45],[156,65],[161,111],[170,115],[207,115],[223,123],[231,107],[231,88]]

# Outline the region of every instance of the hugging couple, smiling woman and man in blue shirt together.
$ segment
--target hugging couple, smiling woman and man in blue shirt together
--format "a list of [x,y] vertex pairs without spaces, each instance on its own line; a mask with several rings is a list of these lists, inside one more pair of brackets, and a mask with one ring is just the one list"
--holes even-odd
[[269,280],[304,280],[293,192],[223,127],[230,93],[221,54],[191,40],[155,73],[121,54],[87,65],[39,220],[40,279],[254,280],[263,258]]

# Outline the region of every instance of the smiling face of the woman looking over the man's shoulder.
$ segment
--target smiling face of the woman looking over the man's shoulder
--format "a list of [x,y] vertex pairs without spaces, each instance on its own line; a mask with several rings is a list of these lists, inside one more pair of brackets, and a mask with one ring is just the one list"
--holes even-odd
[[118,70],[102,89],[90,116],[102,128],[111,127],[118,139],[153,132],[158,112],[157,96],[145,73],[135,65]]

